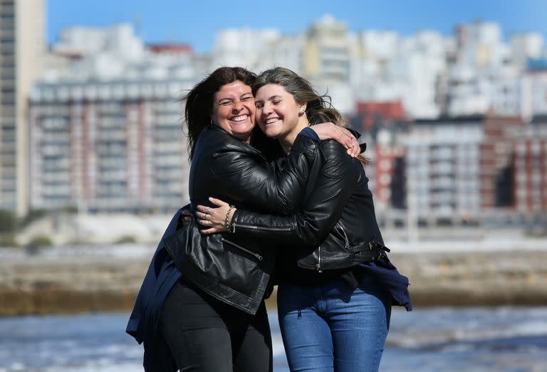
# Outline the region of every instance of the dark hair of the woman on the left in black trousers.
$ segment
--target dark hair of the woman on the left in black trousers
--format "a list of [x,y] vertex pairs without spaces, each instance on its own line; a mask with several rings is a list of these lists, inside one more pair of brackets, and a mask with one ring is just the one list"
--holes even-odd
[[189,159],[194,157],[197,137],[203,129],[211,124],[214,95],[222,85],[241,81],[251,87],[256,74],[241,67],[221,67],[214,70],[207,78],[194,85],[187,95],[182,97],[184,107],[184,124],[188,132]]

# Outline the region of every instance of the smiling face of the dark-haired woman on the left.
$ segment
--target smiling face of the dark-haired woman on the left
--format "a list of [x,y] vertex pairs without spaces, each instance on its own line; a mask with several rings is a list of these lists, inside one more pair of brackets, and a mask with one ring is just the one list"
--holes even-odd
[[215,93],[211,118],[232,136],[249,142],[255,111],[251,87],[236,80]]

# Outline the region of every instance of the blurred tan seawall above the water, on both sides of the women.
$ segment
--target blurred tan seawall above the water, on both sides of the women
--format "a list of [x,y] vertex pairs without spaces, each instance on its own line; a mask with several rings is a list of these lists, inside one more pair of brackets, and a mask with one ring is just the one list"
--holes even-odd
[[[0,316],[130,311],[152,248],[142,253],[140,247],[138,254],[131,247],[79,249],[0,253]],[[410,278],[415,307],[547,304],[545,249],[405,252],[390,258]]]

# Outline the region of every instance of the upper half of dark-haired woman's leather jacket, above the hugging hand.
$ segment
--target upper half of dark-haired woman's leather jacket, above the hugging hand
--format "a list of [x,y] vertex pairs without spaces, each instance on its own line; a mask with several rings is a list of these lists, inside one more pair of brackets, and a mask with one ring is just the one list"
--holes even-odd
[[198,142],[202,151],[194,156],[190,173],[192,203],[207,203],[214,196],[239,208],[278,214],[300,208],[308,181],[316,179],[321,164],[315,139],[299,135],[287,159],[269,163],[256,149],[217,130],[209,129]]

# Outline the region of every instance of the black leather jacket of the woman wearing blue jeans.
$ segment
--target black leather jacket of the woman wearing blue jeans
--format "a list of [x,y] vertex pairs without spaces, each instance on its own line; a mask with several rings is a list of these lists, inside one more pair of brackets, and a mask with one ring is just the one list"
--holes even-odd
[[363,166],[338,142],[321,143],[320,152],[324,166],[298,213],[271,216],[238,209],[234,235],[281,243],[279,260],[296,260],[298,267],[319,272],[378,260],[388,249]]

